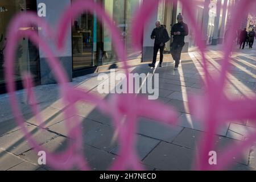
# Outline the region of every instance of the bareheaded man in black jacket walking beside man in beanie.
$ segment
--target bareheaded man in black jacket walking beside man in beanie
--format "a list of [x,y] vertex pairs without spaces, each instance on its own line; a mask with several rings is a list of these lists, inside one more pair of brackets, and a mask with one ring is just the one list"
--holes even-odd
[[155,39],[153,61],[152,61],[152,64],[148,64],[148,66],[152,68],[155,68],[156,56],[158,55],[159,49],[160,49],[159,67],[162,67],[164,47],[166,46],[166,43],[170,40],[170,36],[168,35],[166,28],[163,25],[161,26],[159,21],[155,22],[155,26],[156,27],[154,28],[151,34],[151,39]]

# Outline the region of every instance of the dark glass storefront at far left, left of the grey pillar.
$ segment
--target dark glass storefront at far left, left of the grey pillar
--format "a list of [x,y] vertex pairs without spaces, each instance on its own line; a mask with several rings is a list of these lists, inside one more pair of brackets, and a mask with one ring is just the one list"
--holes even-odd
[[[15,14],[26,10],[36,10],[36,2],[33,0],[1,0],[0,7],[0,85],[2,85],[5,84],[5,55],[3,51],[8,42],[6,28]],[[28,28],[32,27],[20,27],[20,30],[27,30]],[[39,81],[39,52],[27,38],[23,38],[18,43],[14,69],[16,81],[21,80],[24,71],[30,72],[34,80]]]

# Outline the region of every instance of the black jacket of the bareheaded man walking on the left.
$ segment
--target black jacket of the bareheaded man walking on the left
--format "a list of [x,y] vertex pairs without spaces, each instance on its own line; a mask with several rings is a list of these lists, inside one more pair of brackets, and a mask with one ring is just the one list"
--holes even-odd
[[165,44],[170,40],[170,36],[168,35],[167,30],[163,26],[160,26],[159,28],[154,28],[151,34],[151,39],[154,38],[156,45],[159,45],[161,43]]

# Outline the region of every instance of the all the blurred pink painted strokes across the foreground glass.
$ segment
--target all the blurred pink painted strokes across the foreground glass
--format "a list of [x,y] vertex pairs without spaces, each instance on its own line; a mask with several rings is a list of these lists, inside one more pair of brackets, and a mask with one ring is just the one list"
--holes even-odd
[[[147,0],[143,1],[141,9],[137,11],[134,16],[132,35],[133,44],[135,49],[141,48],[141,40],[143,35],[144,24],[150,20],[151,14],[148,12],[154,12],[155,7],[161,0]],[[171,0],[166,2],[171,3]],[[177,3],[174,0],[174,3]],[[239,157],[242,153],[243,148],[250,146],[256,140],[256,134],[251,134],[251,136],[241,144],[232,144],[222,152],[218,154],[218,164],[216,166],[210,166],[208,163],[208,153],[214,147],[214,133],[218,129],[218,126],[226,121],[231,120],[241,120],[241,119],[256,119],[256,113],[254,108],[251,107],[256,104],[256,98],[254,99],[244,99],[244,100],[233,100],[230,101],[223,94],[224,83],[226,80],[226,73],[229,71],[230,65],[230,52],[233,48],[233,39],[235,38],[236,31],[229,31],[227,40],[224,45],[224,57],[222,61],[221,73],[218,79],[213,79],[207,68],[208,60],[205,57],[205,45],[201,40],[201,30],[197,26],[196,19],[193,15],[193,7],[196,3],[201,3],[200,1],[186,1],[181,0],[183,3],[185,11],[187,11],[190,27],[195,34],[196,44],[201,52],[203,58],[203,68],[205,72],[206,88],[207,92],[204,96],[189,96],[189,110],[191,113],[204,124],[207,129],[202,140],[200,142],[199,155],[196,156],[195,168],[200,170],[212,170],[212,169],[224,169],[232,163],[233,156]],[[221,5],[222,7],[222,5]],[[252,9],[255,7],[255,2],[253,0],[240,1],[236,6],[233,7],[232,11],[236,12],[232,14],[232,23],[230,24],[229,30],[237,30],[237,22],[241,22],[241,14],[243,11],[254,11]],[[220,8],[220,7],[217,7]],[[223,9],[231,9],[227,7],[224,3]],[[165,124],[176,125],[177,124],[177,113],[175,109],[160,104],[156,101],[148,101],[142,97],[135,97],[134,94],[115,94],[109,100],[102,100],[100,97],[92,93],[88,93],[87,90],[73,88],[68,84],[67,75],[64,72],[60,61],[56,59],[51,48],[46,43],[46,39],[55,39],[56,46],[61,51],[65,45],[65,38],[67,36],[68,29],[70,28],[70,22],[73,18],[83,13],[84,11],[89,11],[92,14],[97,14],[98,20],[106,24],[109,32],[112,33],[112,41],[115,48],[115,52],[118,59],[123,63],[123,69],[125,69],[126,75],[129,73],[128,65],[126,63],[126,55],[123,43],[120,41],[119,32],[114,26],[112,19],[109,15],[101,8],[100,5],[92,0],[88,1],[75,1],[72,6],[68,7],[64,11],[64,15],[60,19],[59,26],[57,28],[58,32],[51,30],[41,18],[32,13],[23,13],[15,16],[11,20],[10,26],[7,30],[8,40],[7,47],[5,50],[6,55],[6,80],[7,80],[7,90],[10,96],[10,103],[13,109],[14,116],[18,125],[21,127],[23,133],[25,134],[28,142],[35,148],[35,151],[42,151],[44,148],[40,146],[32,135],[24,126],[24,118],[18,107],[17,98],[15,96],[15,84],[14,84],[14,59],[15,59],[15,49],[17,42],[23,37],[29,38],[35,45],[40,45],[40,49],[47,55],[47,61],[49,67],[55,75],[55,78],[60,86],[60,94],[63,100],[63,104],[67,107],[64,109],[65,118],[67,118],[67,129],[69,129],[68,137],[72,138],[72,142],[69,142],[67,150],[52,154],[46,150],[47,163],[49,166],[56,169],[71,169],[77,167],[82,170],[88,170],[89,165],[84,159],[84,151],[82,148],[82,131],[79,122],[79,118],[72,117],[77,113],[75,104],[77,101],[89,102],[94,104],[102,113],[112,117],[115,130],[118,131],[118,142],[119,142],[119,153],[118,158],[114,160],[113,164],[109,167],[110,170],[123,170],[123,169],[143,169],[141,163],[139,163],[139,158],[135,152],[135,131],[137,129],[138,117],[147,117],[155,119]],[[26,30],[20,31],[19,27],[29,26],[31,24],[38,24],[38,26],[43,28],[46,38],[39,37],[35,31]],[[128,78],[128,77],[127,77]],[[29,73],[23,73],[23,85],[27,90],[28,97],[31,101],[31,110],[35,114],[37,121],[40,123],[40,127],[44,127],[43,119],[40,116],[40,111],[38,106],[35,104],[36,97],[32,90],[32,78]],[[128,88],[127,88],[128,89]],[[154,109],[152,109],[154,108]],[[148,112],[150,110],[150,112]],[[123,115],[126,115],[125,122],[121,122]],[[71,121],[72,117],[72,121]],[[204,140],[203,140],[204,139]],[[171,154],[170,154],[171,155]],[[232,157],[230,157],[232,156]]]

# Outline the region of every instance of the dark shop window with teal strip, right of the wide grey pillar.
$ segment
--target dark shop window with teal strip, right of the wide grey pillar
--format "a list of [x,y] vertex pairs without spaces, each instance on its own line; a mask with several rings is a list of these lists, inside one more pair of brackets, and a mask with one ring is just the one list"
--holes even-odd
[[[102,0],[96,2],[102,3]],[[72,21],[73,70],[102,65],[102,24],[96,14],[84,12]]]

